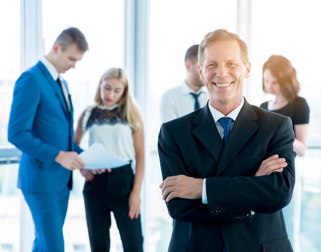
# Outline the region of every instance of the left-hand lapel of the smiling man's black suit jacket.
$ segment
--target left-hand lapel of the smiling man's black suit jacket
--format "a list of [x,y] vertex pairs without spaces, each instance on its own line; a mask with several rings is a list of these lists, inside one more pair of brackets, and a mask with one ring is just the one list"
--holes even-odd
[[200,110],[193,124],[198,126],[191,133],[209,150],[216,163],[218,163],[223,149],[223,142],[220,139],[208,105]]

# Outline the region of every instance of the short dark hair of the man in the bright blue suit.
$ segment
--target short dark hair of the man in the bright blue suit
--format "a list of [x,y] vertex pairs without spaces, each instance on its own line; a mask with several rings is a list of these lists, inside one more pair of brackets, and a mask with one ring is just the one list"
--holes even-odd
[[86,52],[89,49],[85,35],[75,27],[63,30],[56,38],[55,43],[59,43],[63,51],[66,51],[68,46],[72,44],[76,44],[81,52]]

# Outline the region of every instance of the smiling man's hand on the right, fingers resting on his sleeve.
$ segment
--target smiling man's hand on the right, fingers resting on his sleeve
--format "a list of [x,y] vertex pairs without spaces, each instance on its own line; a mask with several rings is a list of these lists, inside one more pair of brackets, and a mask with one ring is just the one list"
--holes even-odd
[[279,158],[277,154],[262,161],[258,170],[255,173],[255,177],[270,175],[271,172],[283,172],[284,168],[288,166],[284,158]]

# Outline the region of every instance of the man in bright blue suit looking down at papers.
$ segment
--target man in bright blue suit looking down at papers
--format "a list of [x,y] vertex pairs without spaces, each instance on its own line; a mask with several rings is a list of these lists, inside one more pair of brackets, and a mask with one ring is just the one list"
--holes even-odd
[[50,52],[16,81],[8,140],[22,153],[18,187],[35,225],[33,251],[64,251],[72,170],[85,163],[73,142],[73,107],[67,83],[59,75],[74,68],[88,50],[84,34],[68,28]]

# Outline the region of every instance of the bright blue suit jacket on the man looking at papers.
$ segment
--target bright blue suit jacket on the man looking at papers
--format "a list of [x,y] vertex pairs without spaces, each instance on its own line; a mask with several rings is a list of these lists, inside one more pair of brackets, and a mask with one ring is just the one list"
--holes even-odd
[[71,188],[71,171],[54,159],[60,150],[82,151],[73,142],[73,108],[71,104],[68,112],[61,88],[41,62],[15,83],[8,140],[23,152],[19,188],[26,192]]

